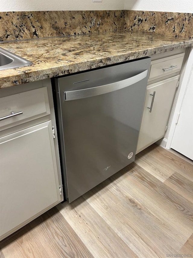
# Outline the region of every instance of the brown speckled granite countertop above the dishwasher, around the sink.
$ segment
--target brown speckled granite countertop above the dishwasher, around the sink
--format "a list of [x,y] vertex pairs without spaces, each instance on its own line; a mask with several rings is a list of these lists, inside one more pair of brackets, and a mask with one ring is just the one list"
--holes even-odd
[[0,47],[33,65],[1,70],[0,88],[190,46],[191,39],[129,31],[2,42]]

